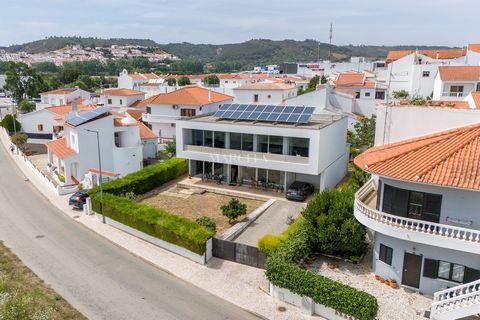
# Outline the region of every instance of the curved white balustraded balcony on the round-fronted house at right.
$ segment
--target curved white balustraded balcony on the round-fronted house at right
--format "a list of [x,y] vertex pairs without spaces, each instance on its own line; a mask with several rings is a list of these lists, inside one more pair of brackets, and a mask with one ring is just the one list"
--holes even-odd
[[375,209],[375,182],[355,194],[355,218],[367,228],[398,239],[480,254],[480,230],[400,217]]

